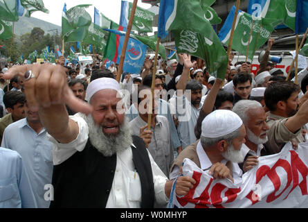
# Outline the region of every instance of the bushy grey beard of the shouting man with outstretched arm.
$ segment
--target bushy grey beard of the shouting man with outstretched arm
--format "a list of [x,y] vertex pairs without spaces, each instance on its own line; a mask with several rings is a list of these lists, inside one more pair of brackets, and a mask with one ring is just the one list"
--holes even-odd
[[132,143],[132,134],[129,129],[129,121],[127,117],[124,118],[123,124],[120,126],[118,135],[105,135],[102,131],[102,126],[94,123],[91,114],[87,117],[82,114],[89,126],[89,139],[91,144],[106,157],[110,157],[115,153],[125,151]]

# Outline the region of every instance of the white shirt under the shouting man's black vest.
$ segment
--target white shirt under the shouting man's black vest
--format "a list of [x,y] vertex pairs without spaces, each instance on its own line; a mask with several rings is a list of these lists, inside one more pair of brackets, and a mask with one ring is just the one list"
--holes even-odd
[[[51,135],[48,135],[51,142],[54,143],[53,161],[55,165],[61,164],[69,159],[75,152],[82,151],[87,144],[89,128],[80,114],[70,116],[78,123],[79,133],[76,139],[69,144],[58,143]],[[134,144],[132,144],[134,146]],[[147,151],[153,174],[155,204],[159,207],[167,205],[168,198],[165,196],[165,182],[167,177],[154,162],[152,155]],[[127,148],[116,155],[116,172],[112,182],[111,191],[106,207],[113,208],[136,208],[141,207],[141,182],[138,173],[134,171],[132,149]],[[136,176],[135,176],[136,175]],[[139,188],[139,189],[138,189]]]

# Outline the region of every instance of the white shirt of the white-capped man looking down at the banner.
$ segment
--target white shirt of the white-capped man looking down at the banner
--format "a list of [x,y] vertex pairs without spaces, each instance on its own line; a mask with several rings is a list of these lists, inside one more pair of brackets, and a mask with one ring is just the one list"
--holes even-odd
[[[197,144],[197,155],[200,162],[200,168],[203,171],[208,172],[210,170],[210,167],[212,167],[212,162],[210,162],[210,158],[208,158],[208,155],[206,154],[206,151],[204,151],[201,142],[199,141]],[[228,160],[223,159],[221,160],[221,163],[226,165]],[[232,162],[233,167],[233,178],[240,178],[242,177],[243,171],[239,168],[239,165],[237,163]],[[172,172],[170,173],[170,180],[173,180],[176,178],[179,174],[179,167],[174,166]]]

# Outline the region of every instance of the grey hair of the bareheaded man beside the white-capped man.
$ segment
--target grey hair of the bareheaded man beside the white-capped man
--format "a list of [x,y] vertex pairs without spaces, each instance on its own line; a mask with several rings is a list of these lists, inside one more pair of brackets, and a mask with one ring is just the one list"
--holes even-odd
[[235,103],[232,111],[242,119],[244,124],[246,124],[249,121],[247,111],[256,108],[262,108],[261,103],[253,100],[242,99]]

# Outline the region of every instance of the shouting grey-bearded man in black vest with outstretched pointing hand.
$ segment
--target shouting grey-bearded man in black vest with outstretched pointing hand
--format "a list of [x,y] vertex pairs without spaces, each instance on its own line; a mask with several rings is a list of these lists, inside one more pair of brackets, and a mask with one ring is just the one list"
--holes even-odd
[[[120,87],[112,78],[93,80],[78,99],[59,65],[13,67],[3,76],[25,77],[29,108],[36,110],[54,143],[51,207],[154,207],[167,205],[167,180],[140,137],[129,130]],[[82,112],[73,117],[65,104]],[[195,180],[179,177],[176,194]]]

